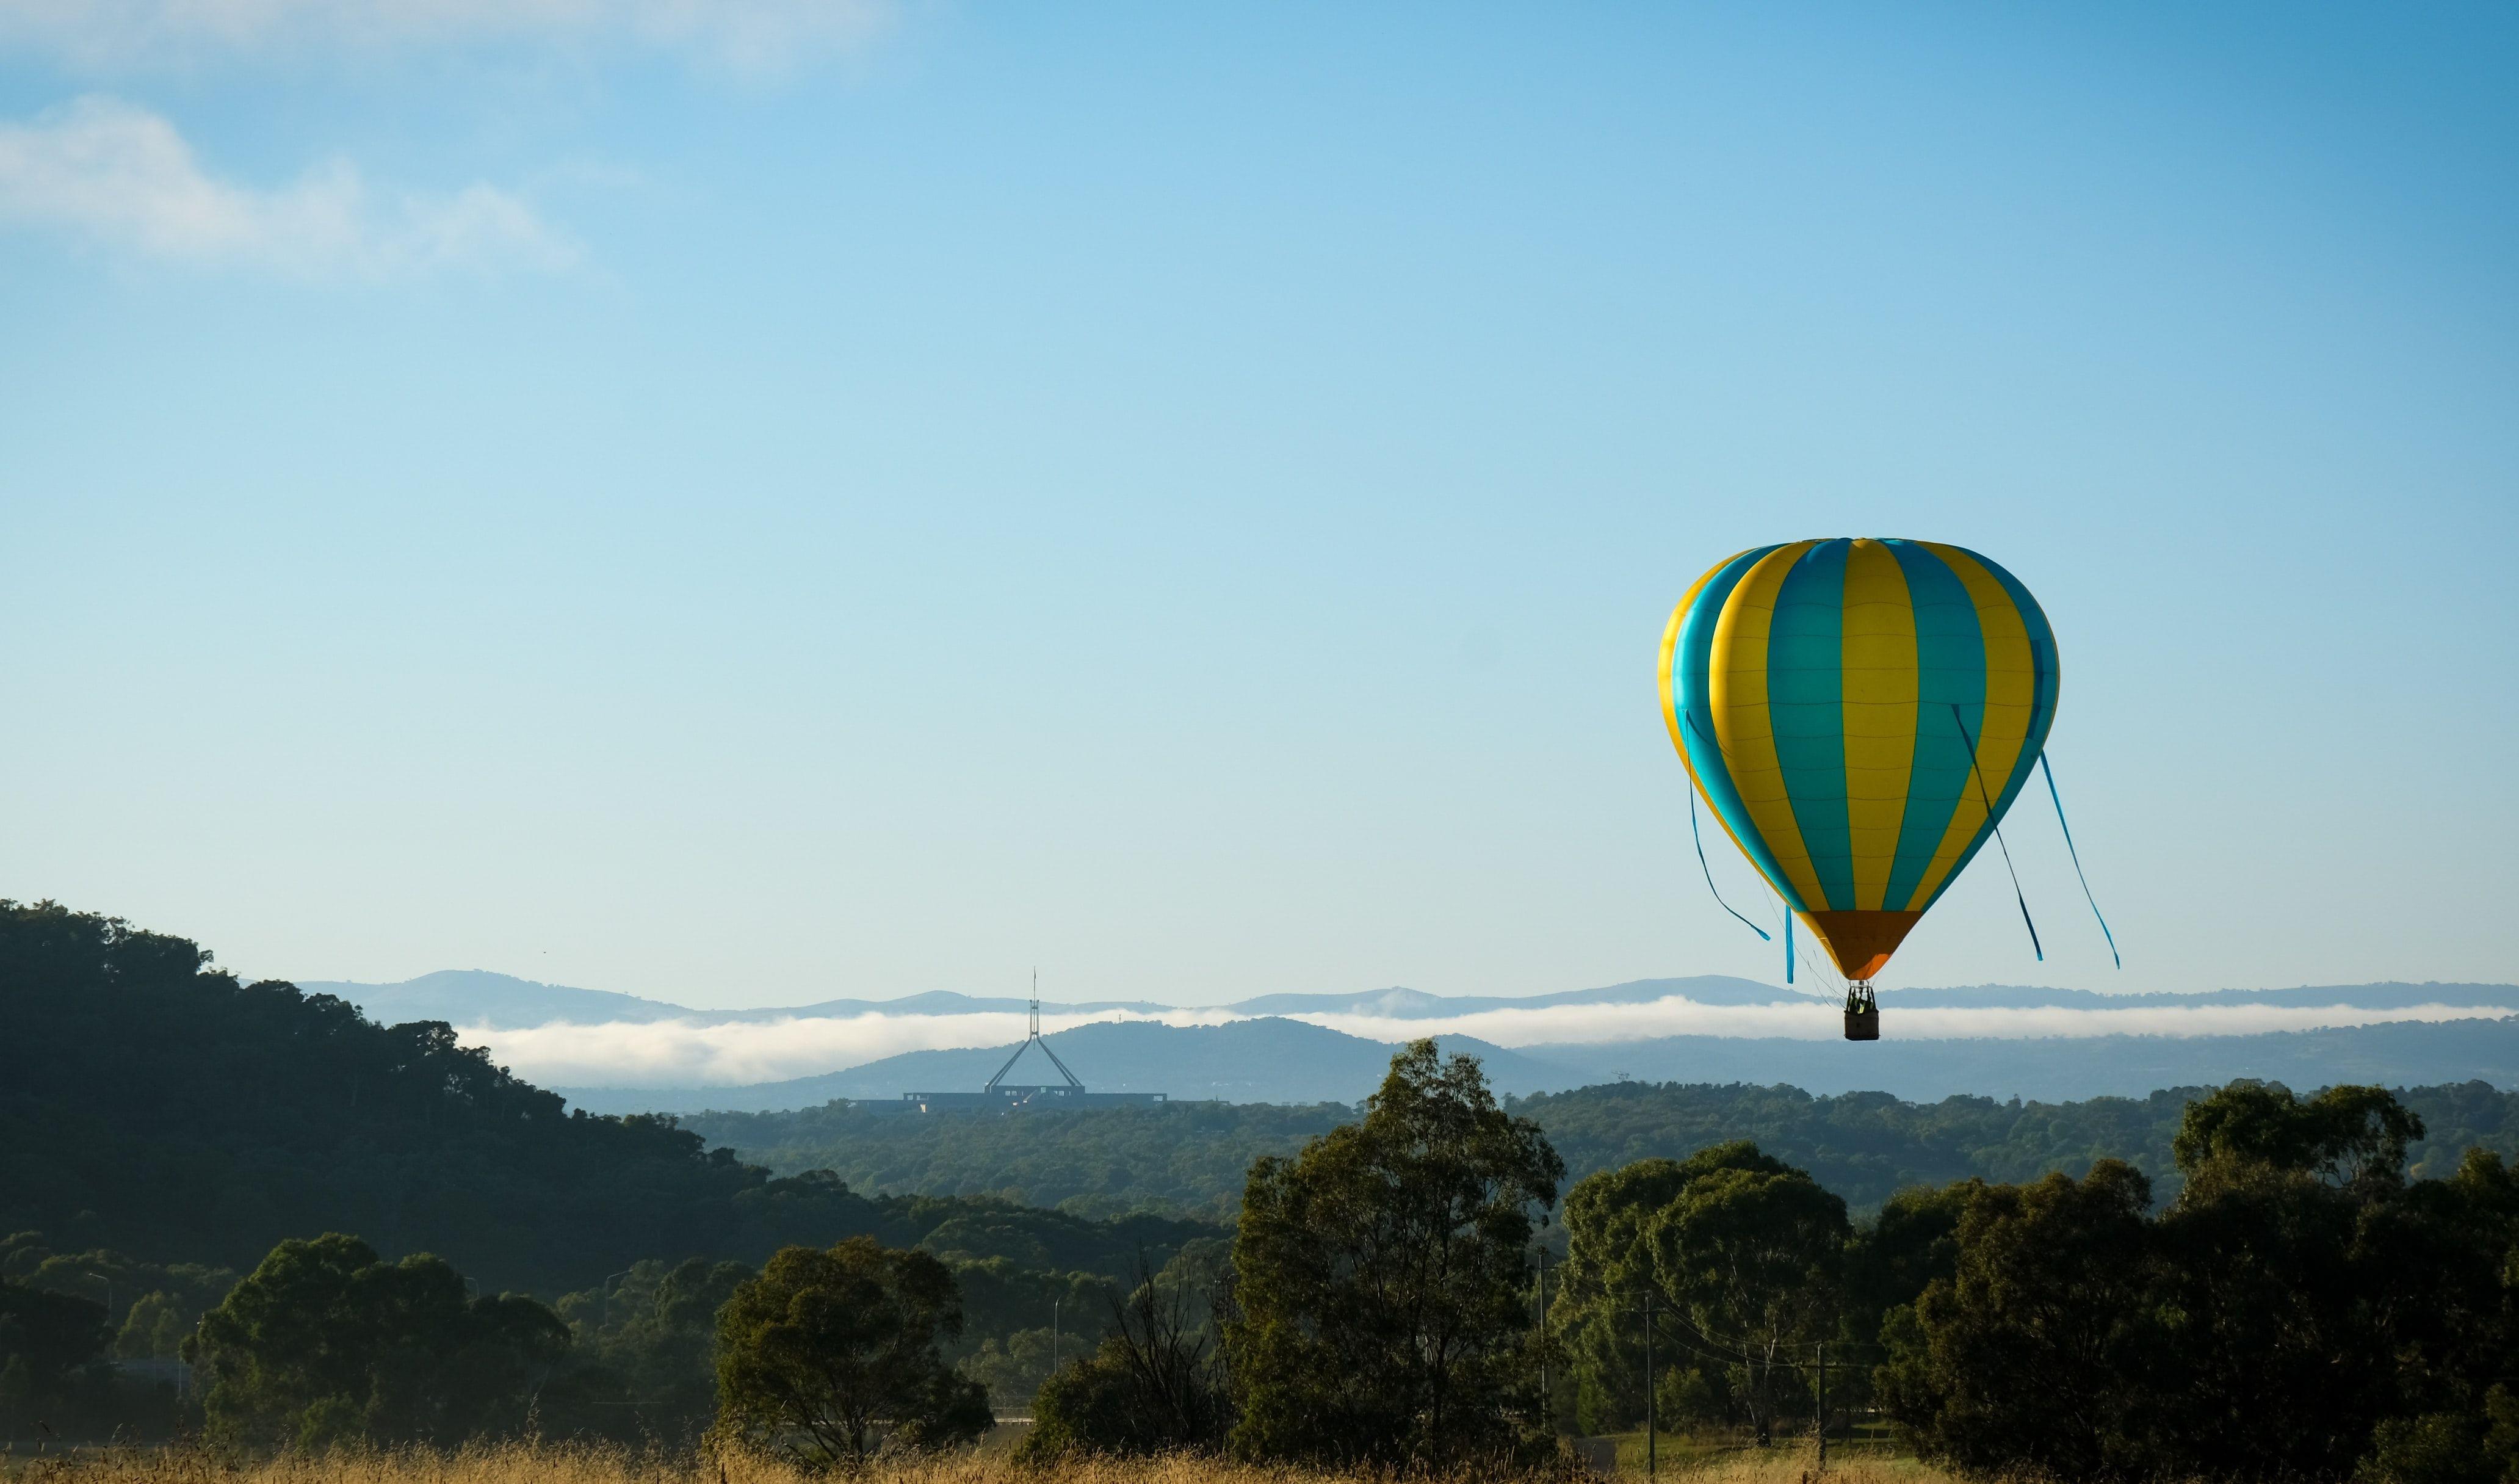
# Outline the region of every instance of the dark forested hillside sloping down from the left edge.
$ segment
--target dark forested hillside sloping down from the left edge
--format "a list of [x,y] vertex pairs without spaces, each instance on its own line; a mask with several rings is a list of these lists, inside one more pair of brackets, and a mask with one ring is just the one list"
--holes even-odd
[[773,1177],[673,1119],[569,1114],[446,1025],[373,1025],[48,902],[0,902],[0,1436],[176,1426],[184,1340],[239,1275],[322,1232],[388,1267],[433,1255],[471,1295],[534,1295],[577,1376],[552,1406],[662,1434],[715,1406],[718,1300],[783,1247],[932,1252],[967,1303],[952,1361],[1020,1403],[1058,1318],[1091,1340],[1141,1260],[1227,1237]]

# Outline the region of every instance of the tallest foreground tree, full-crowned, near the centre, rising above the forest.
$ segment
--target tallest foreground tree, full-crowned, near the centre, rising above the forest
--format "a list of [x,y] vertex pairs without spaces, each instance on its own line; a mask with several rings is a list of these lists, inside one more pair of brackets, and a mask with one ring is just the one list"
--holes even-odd
[[1252,1164],[1224,1325],[1244,1456],[1441,1466],[1544,1446],[1532,1212],[1564,1164],[1433,1041],[1295,1159]]

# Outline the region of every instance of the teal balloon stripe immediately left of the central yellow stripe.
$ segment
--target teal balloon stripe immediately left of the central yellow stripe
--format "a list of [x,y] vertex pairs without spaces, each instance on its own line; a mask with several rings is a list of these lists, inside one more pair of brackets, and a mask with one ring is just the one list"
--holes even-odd
[[1766,711],[1794,824],[1811,852],[1826,902],[1854,907],[1854,831],[1846,821],[1846,552],[1854,542],[1811,547],[1776,592],[1766,640]]

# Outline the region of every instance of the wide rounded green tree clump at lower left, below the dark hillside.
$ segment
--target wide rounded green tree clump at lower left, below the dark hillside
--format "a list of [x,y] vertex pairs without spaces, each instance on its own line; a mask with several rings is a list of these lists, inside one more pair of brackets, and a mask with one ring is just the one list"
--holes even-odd
[[209,1434],[254,1449],[521,1434],[569,1330],[529,1298],[463,1287],[438,1257],[383,1262],[338,1232],[280,1242],[184,1345]]

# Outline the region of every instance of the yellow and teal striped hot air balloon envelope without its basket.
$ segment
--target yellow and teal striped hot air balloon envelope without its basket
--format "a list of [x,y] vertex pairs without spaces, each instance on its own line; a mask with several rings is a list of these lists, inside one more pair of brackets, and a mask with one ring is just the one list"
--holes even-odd
[[1741,854],[1869,980],[2028,781],[2056,632],[1940,542],[1788,542],[1720,562],[1663,635],[1663,721]]

